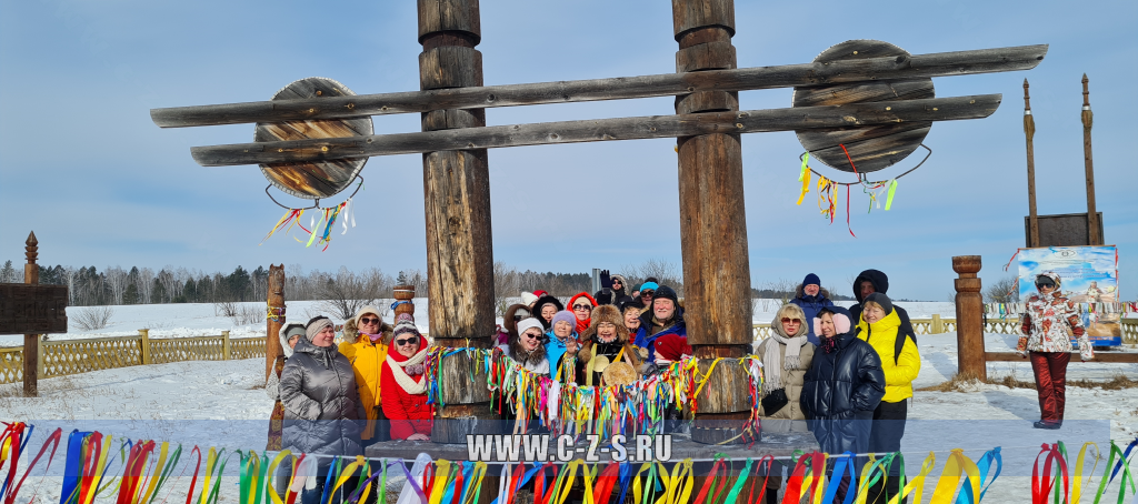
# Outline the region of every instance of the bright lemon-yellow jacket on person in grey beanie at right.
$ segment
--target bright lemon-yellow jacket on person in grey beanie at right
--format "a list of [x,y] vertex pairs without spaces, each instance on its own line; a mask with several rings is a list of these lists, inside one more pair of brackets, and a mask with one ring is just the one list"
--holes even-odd
[[858,339],[869,344],[881,357],[881,370],[885,373],[885,397],[881,400],[887,403],[899,403],[913,397],[913,380],[921,372],[921,354],[912,339],[905,338],[901,354],[893,354],[900,325],[901,319],[897,316],[897,309],[877,322],[867,324],[863,320],[857,325]]

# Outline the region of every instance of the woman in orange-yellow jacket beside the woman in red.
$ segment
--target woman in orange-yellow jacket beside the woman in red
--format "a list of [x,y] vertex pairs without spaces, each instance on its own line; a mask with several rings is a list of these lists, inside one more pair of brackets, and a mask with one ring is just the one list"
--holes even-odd
[[[360,438],[363,446],[387,440],[384,408],[379,400],[379,374],[387,360],[388,341],[385,339],[391,328],[384,323],[379,311],[364,306],[355,319],[344,324],[345,341],[340,344],[340,353],[352,363],[356,375],[356,389],[360,390],[360,402],[368,413],[368,423],[361,429]],[[354,338],[352,334],[356,334]],[[385,422],[386,423],[386,422]]]

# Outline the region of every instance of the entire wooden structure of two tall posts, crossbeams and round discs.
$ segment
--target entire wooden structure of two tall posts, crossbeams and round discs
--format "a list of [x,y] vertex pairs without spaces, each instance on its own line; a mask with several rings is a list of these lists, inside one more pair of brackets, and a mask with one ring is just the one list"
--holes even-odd
[[[688,341],[708,373],[715,357],[751,352],[750,265],[742,134],[795,131],[816,159],[864,174],[920,147],[937,121],[982,118],[1000,94],[937,98],[931,77],[1024,71],[1047,46],[910,55],[856,40],[811,63],[737,68],[734,0],[673,0],[676,72],[484,86],[478,0],[418,0],[420,91],[355,94],[328,79],[297,81],[270,101],[162,108],[162,127],[257,123],[251,143],[195,147],[203,166],[261,165],[273,184],[304,198],[347,187],[370,156],[423,158],[430,332],[437,345],[490,346],[494,333],[487,149],[675,138]],[[740,110],[739,91],[793,88],[792,106]],[[675,96],[674,115],[486,125],[494,107]],[[370,116],[421,115],[421,132],[372,134]],[[846,151],[849,152],[849,158]],[[473,369],[471,369],[473,367]],[[432,440],[493,432],[480,366],[446,357]],[[475,377],[471,380],[469,377]],[[700,397],[693,440],[736,438],[749,416],[745,369],[725,358]]]

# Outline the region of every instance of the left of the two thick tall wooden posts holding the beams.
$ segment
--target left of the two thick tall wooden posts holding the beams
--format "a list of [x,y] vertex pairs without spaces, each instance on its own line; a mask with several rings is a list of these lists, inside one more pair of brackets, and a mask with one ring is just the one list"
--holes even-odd
[[[421,90],[483,85],[478,0],[418,0]],[[431,110],[422,130],[486,125],[485,109]],[[423,154],[427,212],[427,278],[430,332],[444,347],[489,347],[494,333],[494,255],[486,149]],[[444,407],[436,410],[431,440],[465,443],[495,418],[480,365],[465,354],[443,363]],[[473,370],[471,370],[473,367]],[[497,425],[493,425],[496,428]],[[490,432],[490,431],[485,431]]]

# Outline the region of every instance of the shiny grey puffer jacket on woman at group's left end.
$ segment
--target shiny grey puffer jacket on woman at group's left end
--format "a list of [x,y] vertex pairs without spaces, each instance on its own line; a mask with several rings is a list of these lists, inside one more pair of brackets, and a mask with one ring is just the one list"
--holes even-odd
[[[352,364],[335,346],[300,338],[281,372],[283,449],[294,453],[362,455],[363,416]],[[323,460],[322,460],[323,461]],[[322,465],[327,466],[327,465]]]

